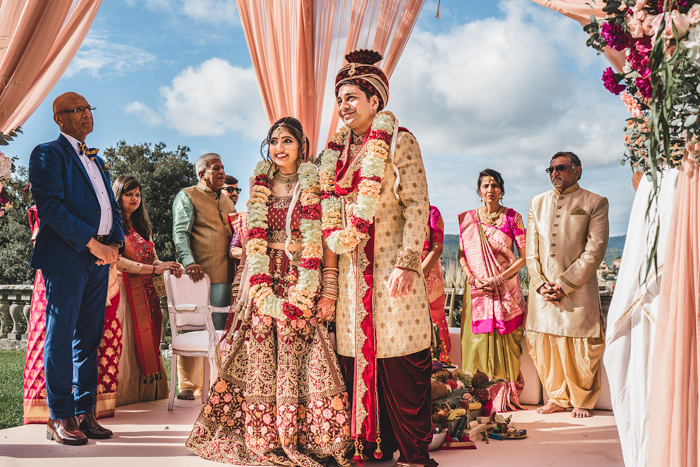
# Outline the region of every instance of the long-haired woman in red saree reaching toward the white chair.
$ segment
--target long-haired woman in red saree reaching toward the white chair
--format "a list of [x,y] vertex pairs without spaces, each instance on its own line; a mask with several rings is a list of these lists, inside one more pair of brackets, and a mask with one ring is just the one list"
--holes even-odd
[[153,279],[166,269],[180,277],[182,268],[176,262],[158,259],[150,240],[152,231],[138,180],[122,175],[114,181],[112,189],[126,233],[124,253],[117,260],[120,290],[125,297],[117,312],[123,344],[117,405],[123,406],[168,398],[168,375],[160,353],[163,315]]

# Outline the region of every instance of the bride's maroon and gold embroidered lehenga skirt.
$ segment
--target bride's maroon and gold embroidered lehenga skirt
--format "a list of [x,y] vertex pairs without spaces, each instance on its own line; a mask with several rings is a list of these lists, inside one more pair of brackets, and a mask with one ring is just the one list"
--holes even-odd
[[[289,261],[268,249],[277,296],[297,280]],[[253,309],[236,333],[187,447],[239,465],[349,465],[350,407],[328,333],[315,317],[277,320]]]

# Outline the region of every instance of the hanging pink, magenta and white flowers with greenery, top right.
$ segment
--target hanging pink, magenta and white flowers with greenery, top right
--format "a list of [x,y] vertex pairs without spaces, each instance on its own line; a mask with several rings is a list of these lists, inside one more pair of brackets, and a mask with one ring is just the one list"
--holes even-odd
[[[584,27],[587,45],[624,51],[621,72],[603,84],[630,112],[624,165],[657,186],[662,166],[678,167],[700,133],[700,0],[602,0],[606,17]],[[700,162],[700,154],[694,154]]]

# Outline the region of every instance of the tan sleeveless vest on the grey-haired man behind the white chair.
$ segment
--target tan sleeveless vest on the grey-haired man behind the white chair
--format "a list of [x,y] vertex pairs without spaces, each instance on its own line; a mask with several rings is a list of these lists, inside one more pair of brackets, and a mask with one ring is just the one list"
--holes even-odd
[[233,283],[235,268],[228,255],[233,236],[228,215],[236,212],[233,201],[228,196],[217,196],[202,184],[184,191],[194,207],[190,248],[195,262],[209,275],[212,284]]

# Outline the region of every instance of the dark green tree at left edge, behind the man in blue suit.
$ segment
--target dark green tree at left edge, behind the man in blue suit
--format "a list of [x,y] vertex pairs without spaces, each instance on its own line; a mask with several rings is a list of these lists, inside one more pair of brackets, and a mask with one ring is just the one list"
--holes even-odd
[[0,217],[0,284],[32,284],[34,270],[29,266],[32,257],[32,232],[27,209],[34,204],[30,192],[24,193],[29,176],[25,167],[18,167],[12,180],[6,184],[12,203]]

